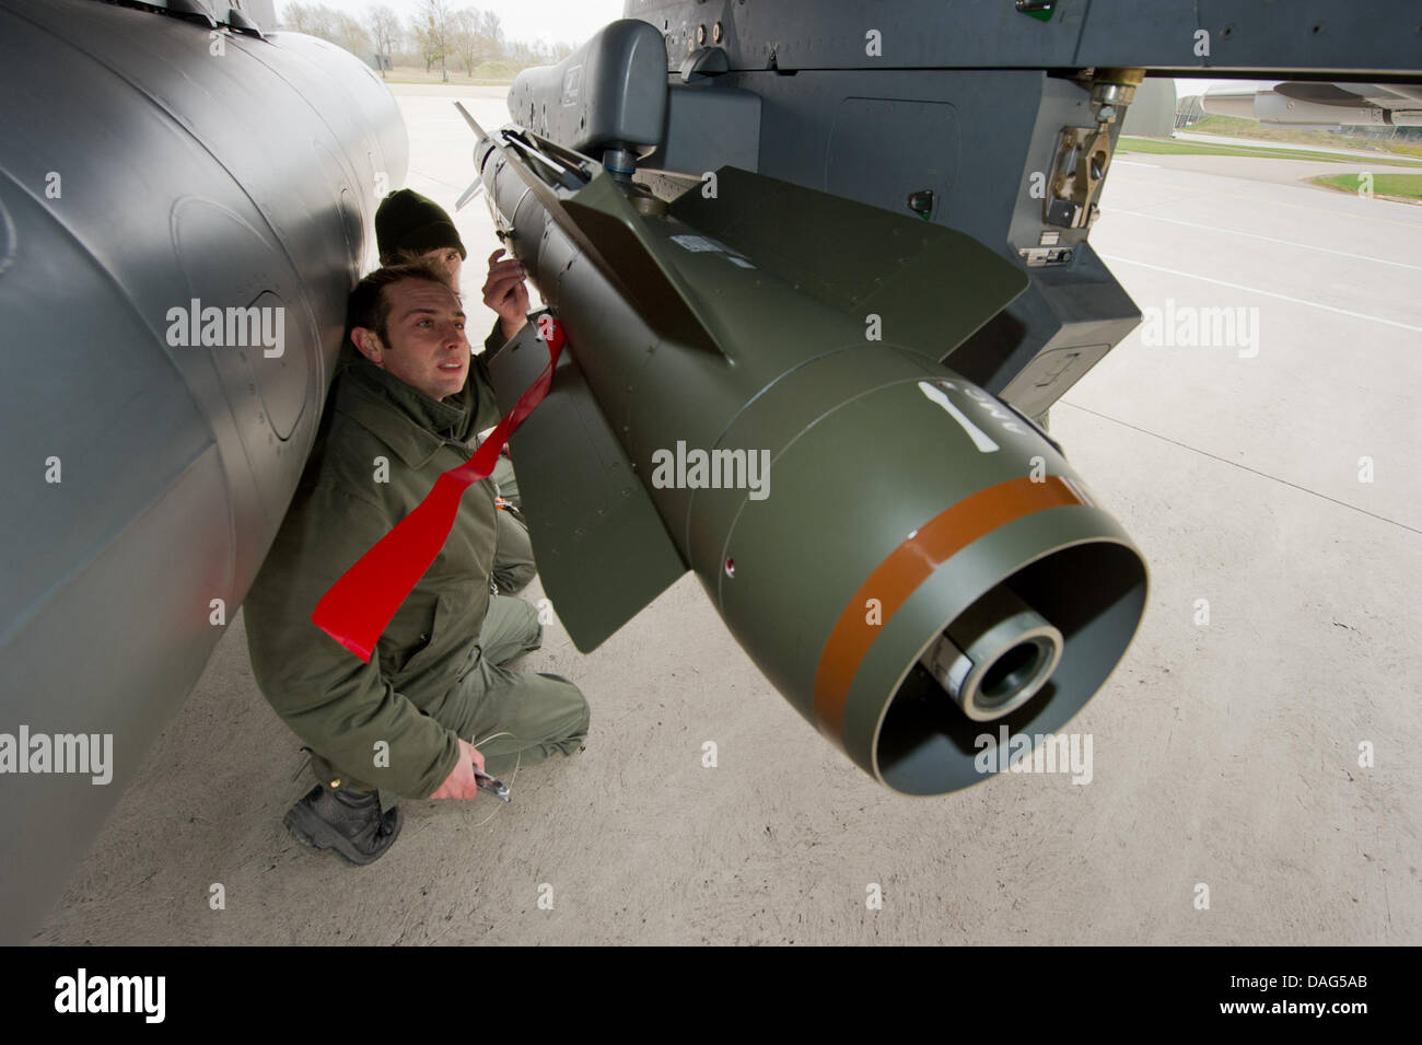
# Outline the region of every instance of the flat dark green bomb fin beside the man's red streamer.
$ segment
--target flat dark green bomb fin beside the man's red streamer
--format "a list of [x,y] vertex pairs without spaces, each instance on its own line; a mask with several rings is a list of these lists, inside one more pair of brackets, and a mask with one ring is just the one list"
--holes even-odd
[[[547,363],[536,318],[489,360],[499,408]],[[631,620],[687,564],[572,353],[509,441],[543,590],[582,653]]]

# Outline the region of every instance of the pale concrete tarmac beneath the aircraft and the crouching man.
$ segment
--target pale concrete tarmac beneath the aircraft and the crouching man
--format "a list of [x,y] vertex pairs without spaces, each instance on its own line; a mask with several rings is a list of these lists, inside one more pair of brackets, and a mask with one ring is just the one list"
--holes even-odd
[[[407,183],[449,206],[454,91],[397,94]],[[502,91],[458,94],[506,119]],[[593,654],[552,626],[523,664],[582,685],[584,754],[520,771],[509,806],[407,802],[353,869],[280,823],[310,779],[239,617],[36,941],[1422,943],[1422,209],[1192,159],[1119,165],[1092,245],[1142,309],[1243,309],[1234,341],[1138,328],[1052,409],[1152,573],[1071,725],[1089,783],[880,788],[684,577]],[[458,222],[482,336],[496,240],[482,200]]]

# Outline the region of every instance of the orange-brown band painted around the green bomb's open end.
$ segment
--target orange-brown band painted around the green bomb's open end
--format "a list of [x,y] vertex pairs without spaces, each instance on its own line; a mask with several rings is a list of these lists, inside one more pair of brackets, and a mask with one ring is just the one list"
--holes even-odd
[[[815,717],[820,731],[843,746],[845,701],[859,665],[883,626],[936,569],[978,537],[1025,515],[1091,503],[1086,492],[1064,476],[1049,475],[1042,482],[1022,476],[978,491],[914,530],[859,586],[829,633],[815,670]],[[879,600],[879,624],[866,620],[870,599]]]

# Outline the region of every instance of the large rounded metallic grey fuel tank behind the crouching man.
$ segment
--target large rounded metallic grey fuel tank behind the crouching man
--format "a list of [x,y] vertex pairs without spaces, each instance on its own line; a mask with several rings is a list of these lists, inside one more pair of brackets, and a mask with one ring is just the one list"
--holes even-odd
[[0,940],[23,943],[276,536],[408,139],[353,55],[206,17],[0,0]]

